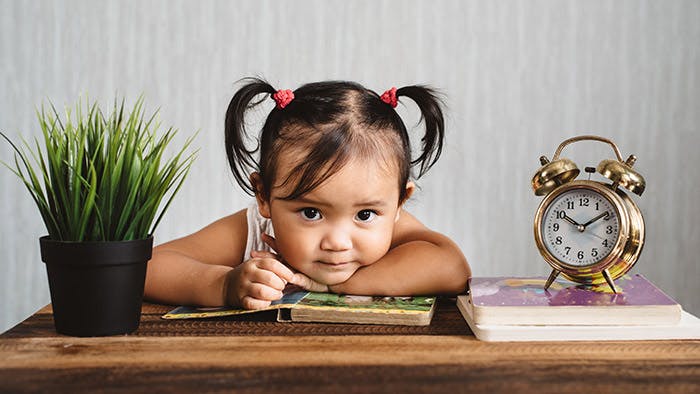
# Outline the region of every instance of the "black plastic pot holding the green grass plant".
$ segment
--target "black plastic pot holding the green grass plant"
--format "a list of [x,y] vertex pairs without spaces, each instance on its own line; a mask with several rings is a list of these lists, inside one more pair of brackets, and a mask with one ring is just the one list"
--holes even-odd
[[78,337],[129,334],[139,327],[153,237],[118,242],[39,239],[56,332]]

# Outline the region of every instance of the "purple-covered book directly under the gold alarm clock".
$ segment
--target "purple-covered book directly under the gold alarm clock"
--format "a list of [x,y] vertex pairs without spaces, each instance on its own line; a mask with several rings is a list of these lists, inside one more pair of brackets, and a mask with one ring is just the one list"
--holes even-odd
[[584,286],[546,278],[472,278],[469,306],[483,325],[653,325],[680,320],[681,306],[640,274]]

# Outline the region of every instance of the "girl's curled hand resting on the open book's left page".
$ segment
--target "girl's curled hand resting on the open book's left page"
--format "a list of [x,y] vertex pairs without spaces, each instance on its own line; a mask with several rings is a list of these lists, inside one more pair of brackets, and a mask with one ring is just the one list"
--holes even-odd
[[245,309],[261,309],[282,298],[294,273],[275,255],[253,252],[251,259],[234,268],[226,278],[226,302]]

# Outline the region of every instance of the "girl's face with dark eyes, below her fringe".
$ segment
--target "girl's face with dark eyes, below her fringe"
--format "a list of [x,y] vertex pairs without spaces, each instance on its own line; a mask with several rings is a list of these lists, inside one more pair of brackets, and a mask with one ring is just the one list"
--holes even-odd
[[281,199],[288,188],[273,187],[269,201],[259,200],[260,213],[272,219],[277,252],[292,268],[342,283],[389,250],[401,209],[396,177],[373,160],[352,161],[296,200]]

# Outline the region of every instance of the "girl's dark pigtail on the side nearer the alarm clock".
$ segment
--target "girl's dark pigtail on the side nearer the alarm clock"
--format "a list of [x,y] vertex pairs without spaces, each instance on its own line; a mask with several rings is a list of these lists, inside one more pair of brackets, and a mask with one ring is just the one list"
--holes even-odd
[[418,178],[435,164],[442,153],[445,137],[445,118],[442,114],[442,100],[438,93],[426,86],[405,86],[396,91],[396,97],[408,97],[420,109],[421,120],[425,123],[425,135],[421,138],[421,155],[411,161],[411,166],[420,164]]

